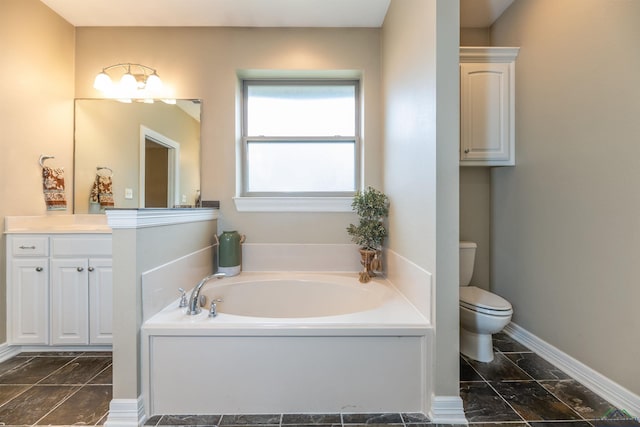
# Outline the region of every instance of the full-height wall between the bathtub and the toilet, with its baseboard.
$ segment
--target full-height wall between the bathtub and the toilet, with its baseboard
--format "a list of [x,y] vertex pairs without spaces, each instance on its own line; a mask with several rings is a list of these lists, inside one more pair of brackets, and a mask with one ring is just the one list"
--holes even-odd
[[[393,0],[382,32],[389,251],[434,277],[436,327],[425,411],[461,422],[458,389],[459,2]],[[428,284],[424,284],[427,286]],[[440,410],[449,405],[451,414]]]

